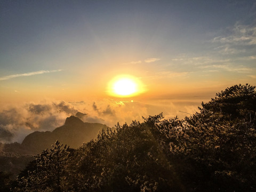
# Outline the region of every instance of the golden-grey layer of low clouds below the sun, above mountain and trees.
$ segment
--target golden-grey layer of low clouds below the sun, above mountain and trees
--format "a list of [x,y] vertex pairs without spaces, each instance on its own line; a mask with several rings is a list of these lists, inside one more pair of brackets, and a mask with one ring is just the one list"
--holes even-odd
[[[201,101],[200,101],[201,102]],[[102,123],[113,127],[117,122],[131,123],[142,121],[142,116],[157,115],[161,112],[167,118],[176,115],[179,110],[194,113],[195,103],[173,103],[171,101],[151,101],[149,104],[136,101],[103,99],[99,101],[79,102],[40,102],[26,103],[19,106],[4,106],[0,111],[0,142],[22,142],[34,131],[52,131],[65,123],[65,119],[76,115],[84,122]]]

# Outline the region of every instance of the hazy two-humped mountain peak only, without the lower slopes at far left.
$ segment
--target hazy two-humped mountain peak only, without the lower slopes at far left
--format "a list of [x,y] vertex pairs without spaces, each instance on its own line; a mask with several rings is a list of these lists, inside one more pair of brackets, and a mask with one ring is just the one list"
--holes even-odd
[[33,151],[33,153],[41,153],[42,150],[51,148],[56,140],[72,148],[78,148],[83,142],[96,138],[102,129],[107,129],[107,126],[100,123],[84,123],[78,117],[70,116],[63,126],[52,132],[35,131],[27,135],[21,145]]

